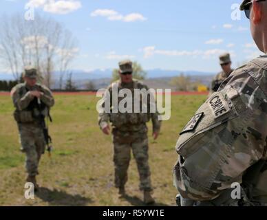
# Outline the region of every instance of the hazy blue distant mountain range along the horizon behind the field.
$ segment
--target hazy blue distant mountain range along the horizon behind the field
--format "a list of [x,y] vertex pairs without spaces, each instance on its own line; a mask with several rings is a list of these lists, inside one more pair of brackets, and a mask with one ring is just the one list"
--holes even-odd
[[[112,76],[112,69],[95,69],[91,72],[85,72],[83,70],[73,70],[72,80],[74,81],[76,87],[79,89],[85,89],[85,84],[89,81],[94,83],[96,89],[105,88],[110,83]],[[209,85],[211,83],[211,78],[215,73],[211,72],[198,72],[198,71],[186,71],[182,72],[179,70],[166,70],[166,69],[150,69],[147,70],[147,79],[145,83],[150,85],[150,87],[158,88],[169,88],[169,82],[171,78],[179,76],[183,73],[185,76],[190,76],[193,81],[200,81],[204,85]],[[55,72],[53,76],[54,88],[58,88],[58,78],[60,73]],[[0,73],[0,80],[13,80],[12,74]],[[67,76],[64,78],[64,83],[67,80]]]

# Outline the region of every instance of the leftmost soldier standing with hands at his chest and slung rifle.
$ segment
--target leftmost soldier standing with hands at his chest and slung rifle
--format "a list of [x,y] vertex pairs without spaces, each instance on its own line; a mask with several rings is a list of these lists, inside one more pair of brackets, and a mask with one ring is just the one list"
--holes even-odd
[[50,89],[36,83],[37,71],[26,67],[23,74],[25,83],[18,84],[11,91],[16,110],[14,119],[17,121],[21,142],[21,151],[26,155],[25,168],[28,173],[27,182],[34,184],[34,190],[39,186],[36,175],[41,155],[45,152],[45,137],[41,120],[49,114],[54,105]]

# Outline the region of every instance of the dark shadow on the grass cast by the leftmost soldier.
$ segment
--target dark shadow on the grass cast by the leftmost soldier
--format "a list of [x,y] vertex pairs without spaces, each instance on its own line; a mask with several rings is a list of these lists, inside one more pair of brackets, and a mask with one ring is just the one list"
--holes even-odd
[[43,187],[39,188],[35,195],[43,201],[47,201],[50,206],[87,206],[88,203],[93,203],[92,199],[81,195],[70,195],[65,191]]

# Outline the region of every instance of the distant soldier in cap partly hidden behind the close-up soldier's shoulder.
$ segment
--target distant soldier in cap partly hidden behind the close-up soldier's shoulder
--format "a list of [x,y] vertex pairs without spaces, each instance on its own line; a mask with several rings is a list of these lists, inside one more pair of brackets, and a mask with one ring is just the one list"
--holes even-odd
[[233,69],[231,68],[232,61],[230,58],[230,54],[222,54],[219,58],[220,58],[220,65],[222,67],[222,72],[220,72],[213,78],[211,82],[210,94],[213,94],[213,92],[217,91],[222,82],[233,72]]

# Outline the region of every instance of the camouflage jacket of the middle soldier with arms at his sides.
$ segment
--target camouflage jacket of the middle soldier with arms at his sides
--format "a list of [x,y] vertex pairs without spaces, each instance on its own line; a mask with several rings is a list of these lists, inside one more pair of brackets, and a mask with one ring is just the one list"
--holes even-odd
[[[116,94],[113,94],[115,89],[118,88],[118,91],[115,92]],[[120,96],[120,91],[122,89],[129,89],[131,91],[131,102],[132,106],[130,107],[131,112],[129,113],[128,111],[122,113],[120,111],[115,111],[116,107],[113,106],[113,101],[117,100],[118,98],[118,105],[120,105],[123,100],[125,100],[125,97]],[[115,129],[118,129],[119,131],[122,132],[135,132],[135,131],[140,131],[140,129],[144,129],[146,126],[146,122],[149,122],[149,120],[152,120],[153,123],[153,131],[154,132],[159,132],[160,131],[160,114],[158,113],[156,109],[156,101],[153,102],[155,103],[155,109],[156,111],[152,112],[149,110],[150,106],[150,100],[154,100],[153,96],[148,95],[147,98],[147,113],[142,113],[142,107],[144,107],[144,102],[142,102],[142,97],[140,97],[140,112],[136,113],[134,112],[134,107],[135,107],[135,98],[134,98],[134,89],[145,89],[145,91],[148,91],[149,88],[140,83],[138,80],[133,80],[133,83],[121,83],[120,80],[118,80],[115,83],[112,83],[109,85],[107,92],[105,94],[104,100],[109,101],[109,109],[111,110],[110,112],[103,111],[103,113],[99,113],[98,115],[98,124],[100,126],[100,129],[105,128],[107,126],[108,122],[111,122],[112,126]],[[150,99],[150,97],[152,99]],[[151,103],[151,104],[153,104]],[[129,102],[127,102],[127,105]],[[117,108],[118,110],[118,108]]]

